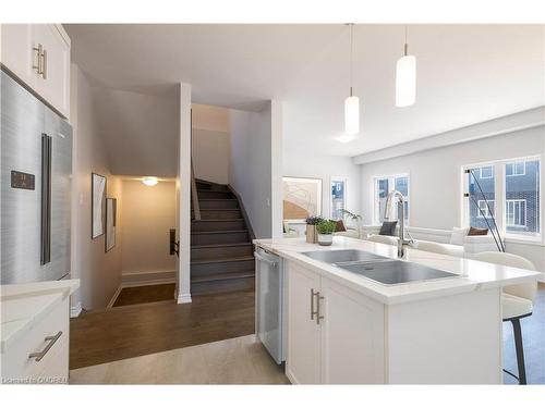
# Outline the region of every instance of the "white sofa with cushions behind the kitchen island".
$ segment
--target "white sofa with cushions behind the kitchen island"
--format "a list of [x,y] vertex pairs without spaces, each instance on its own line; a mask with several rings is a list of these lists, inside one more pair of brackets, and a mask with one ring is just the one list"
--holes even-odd
[[[378,235],[380,225],[364,225],[362,227],[363,239],[368,239],[372,236]],[[450,255],[458,258],[473,258],[475,254],[485,251],[496,251],[496,243],[494,237],[488,235],[467,235],[463,237],[463,245],[450,244],[452,231],[450,230],[432,230],[420,228],[415,226],[407,226],[405,231],[411,235],[415,242],[416,249],[428,251],[440,251],[441,254]],[[397,245],[399,230],[396,227],[396,236],[382,235],[380,242],[390,245]],[[373,240],[373,238],[372,238]],[[426,243],[440,244],[426,245]]]

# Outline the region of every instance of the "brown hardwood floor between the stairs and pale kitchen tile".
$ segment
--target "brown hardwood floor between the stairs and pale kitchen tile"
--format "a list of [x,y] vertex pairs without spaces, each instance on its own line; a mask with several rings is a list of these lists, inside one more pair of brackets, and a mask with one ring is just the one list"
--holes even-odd
[[76,369],[253,334],[254,292],[116,307],[70,323],[70,368]]

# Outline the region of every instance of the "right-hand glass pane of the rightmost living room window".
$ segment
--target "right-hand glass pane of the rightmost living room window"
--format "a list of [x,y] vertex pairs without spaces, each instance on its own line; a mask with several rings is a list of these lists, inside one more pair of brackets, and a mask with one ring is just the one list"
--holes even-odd
[[540,234],[540,161],[509,162],[505,172],[506,233]]

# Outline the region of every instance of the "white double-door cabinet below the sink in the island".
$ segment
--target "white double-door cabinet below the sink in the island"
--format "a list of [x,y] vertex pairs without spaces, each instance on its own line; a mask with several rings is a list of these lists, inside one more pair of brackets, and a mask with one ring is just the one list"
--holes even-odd
[[288,293],[292,383],[385,382],[384,305],[292,262]]

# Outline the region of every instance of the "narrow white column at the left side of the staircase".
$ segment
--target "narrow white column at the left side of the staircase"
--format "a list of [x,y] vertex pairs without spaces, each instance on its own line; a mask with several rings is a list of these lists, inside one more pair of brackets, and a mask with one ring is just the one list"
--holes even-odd
[[180,150],[178,154],[178,203],[179,203],[179,304],[191,302],[191,84],[180,84]]

